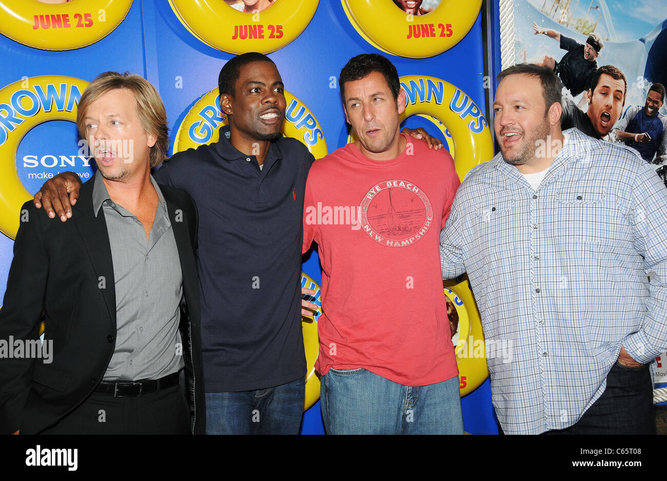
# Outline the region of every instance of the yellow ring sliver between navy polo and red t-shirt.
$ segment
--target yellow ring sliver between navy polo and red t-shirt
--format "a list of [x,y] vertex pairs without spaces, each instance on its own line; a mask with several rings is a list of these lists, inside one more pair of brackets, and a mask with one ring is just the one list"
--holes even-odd
[[[301,328],[303,328],[303,346],[305,347],[305,365],[307,372],[305,374],[305,400],[303,410],[309,409],[313,404],[319,401],[319,378],[315,374],[315,361],[319,355],[319,336],[317,336],[317,319],[322,314],[321,293],[319,284],[307,274],[301,272],[301,287],[315,291],[314,296],[309,296],[307,300],[314,302],[319,306],[313,313],[312,318],[301,316]],[[314,322],[313,322],[314,321]]]

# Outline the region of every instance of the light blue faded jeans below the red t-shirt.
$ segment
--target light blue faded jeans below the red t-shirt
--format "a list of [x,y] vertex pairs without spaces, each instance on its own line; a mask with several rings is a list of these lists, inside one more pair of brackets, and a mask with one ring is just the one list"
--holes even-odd
[[463,434],[458,376],[412,387],[364,368],[329,369],[320,401],[327,434]]

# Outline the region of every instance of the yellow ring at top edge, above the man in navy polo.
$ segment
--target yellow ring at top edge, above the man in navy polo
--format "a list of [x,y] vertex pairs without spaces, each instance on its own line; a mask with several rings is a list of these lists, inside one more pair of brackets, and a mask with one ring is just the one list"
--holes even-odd
[[183,26],[207,45],[229,53],[269,53],[301,35],[319,0],[278,0],[256,13],[223,0],[169,0]]

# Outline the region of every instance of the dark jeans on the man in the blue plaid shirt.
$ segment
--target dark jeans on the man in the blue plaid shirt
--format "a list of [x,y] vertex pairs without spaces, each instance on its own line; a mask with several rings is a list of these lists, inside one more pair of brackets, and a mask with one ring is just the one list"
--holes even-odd
[[582,418],[544,434],[656,434],[649,365],[630,368],[616,362],[607,374],[607,388]]

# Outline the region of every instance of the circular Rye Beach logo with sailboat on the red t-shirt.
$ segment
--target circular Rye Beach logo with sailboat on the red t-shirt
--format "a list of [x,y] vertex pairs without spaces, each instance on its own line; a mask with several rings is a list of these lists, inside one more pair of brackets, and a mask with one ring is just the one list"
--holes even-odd
[[376,242],[406,247],[426,235],[433,222],[433,209],[426,194],[414,183],[387,180],[366,193],[359,219]]

